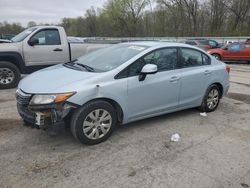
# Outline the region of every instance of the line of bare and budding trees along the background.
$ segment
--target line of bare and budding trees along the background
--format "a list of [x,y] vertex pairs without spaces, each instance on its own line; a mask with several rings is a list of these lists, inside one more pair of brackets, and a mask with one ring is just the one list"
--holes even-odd
[[[108,0],[83,16],[63,18],[60,25],[79,37],[249,36],[250,1]],[[0,33],[21,29],[0,23]]]

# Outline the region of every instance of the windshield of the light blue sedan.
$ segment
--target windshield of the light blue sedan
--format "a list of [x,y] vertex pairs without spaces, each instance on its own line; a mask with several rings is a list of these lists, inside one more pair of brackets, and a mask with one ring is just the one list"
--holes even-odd
[[84,55],[78,58],[76,63],[106,72],[122,65],[146,48],[147,46],[142,45],[117,44]]

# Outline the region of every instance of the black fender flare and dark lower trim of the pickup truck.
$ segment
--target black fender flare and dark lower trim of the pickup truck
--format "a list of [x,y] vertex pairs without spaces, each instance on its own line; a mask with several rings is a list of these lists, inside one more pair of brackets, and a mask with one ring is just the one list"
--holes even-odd
[[52,66],[52,65],[37,65],[37,66],[26,66],[25,62],[18,52],[0,52],[0,62],[1,61],[8,61],[16,65],[21,74],[30,74],[37,70]]

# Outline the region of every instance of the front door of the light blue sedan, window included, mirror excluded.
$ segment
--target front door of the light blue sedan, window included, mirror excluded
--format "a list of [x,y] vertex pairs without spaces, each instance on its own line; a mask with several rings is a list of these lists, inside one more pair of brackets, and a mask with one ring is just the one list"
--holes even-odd
[[[129,66],[128,118],[160,114],[177,108],[180,91],[180,70],[177,69],[177,49],[159,49],[140,58]],[[139,81],[138,75],[145,64],[156,64],[158,72]]]

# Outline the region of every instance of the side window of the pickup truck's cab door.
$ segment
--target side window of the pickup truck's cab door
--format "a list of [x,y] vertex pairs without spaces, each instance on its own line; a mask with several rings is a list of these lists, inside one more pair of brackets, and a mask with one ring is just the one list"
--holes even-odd
[[37,45],[60,45],[60,35],[57,29],[42,30],[32,38],[38,40]]

